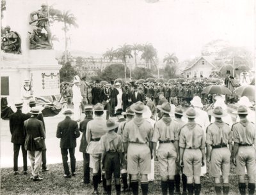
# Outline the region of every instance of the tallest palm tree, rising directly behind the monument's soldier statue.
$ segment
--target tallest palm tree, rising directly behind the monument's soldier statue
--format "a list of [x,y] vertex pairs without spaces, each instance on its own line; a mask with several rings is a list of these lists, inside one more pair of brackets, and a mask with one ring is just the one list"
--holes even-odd
[[64,26],[62,30],[64,31],[65,34],[65,63],[67,63],[67,31],[69,30],[68,27],[74,26],[78,27],[78,24],[76,23],[76,17],[74,17],[73,13],[70,13],[70,11],[63,11],[61,14],[56,15],[54,18],[54,21],[57,22],[63,22]]

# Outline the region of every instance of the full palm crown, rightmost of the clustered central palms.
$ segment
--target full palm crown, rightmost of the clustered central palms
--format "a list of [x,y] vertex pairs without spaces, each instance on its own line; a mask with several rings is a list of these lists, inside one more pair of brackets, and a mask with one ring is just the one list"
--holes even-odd
[[147,68],[151,69],[152,65],[156,66],[156,63],[155,63],[156,58],[157,58],[156,48],[154,48],[151,43],[146,43],[145,45],[143,45],[141,59],[145,60]]

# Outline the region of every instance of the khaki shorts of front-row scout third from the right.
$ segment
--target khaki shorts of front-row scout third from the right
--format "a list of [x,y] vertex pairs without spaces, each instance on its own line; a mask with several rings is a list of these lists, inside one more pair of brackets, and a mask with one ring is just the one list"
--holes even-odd
[[183,154],[184,169],[183,173],[186,177],[193,177],[201,175],[201,165],[202,165],[202,152],[198,149],[188,149],[185,148]]

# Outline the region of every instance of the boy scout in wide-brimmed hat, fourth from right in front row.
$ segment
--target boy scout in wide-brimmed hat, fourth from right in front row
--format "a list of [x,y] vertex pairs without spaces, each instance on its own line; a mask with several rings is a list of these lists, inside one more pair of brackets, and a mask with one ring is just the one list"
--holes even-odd
[[166,102],[157,106],[163,116],[156,122],[152,142],[156,159],[156,144],[159,141],[157,157],[159,161],[162,193],[174,194],[175,161],[179,161],[179,124],[171,119],[171,105]]

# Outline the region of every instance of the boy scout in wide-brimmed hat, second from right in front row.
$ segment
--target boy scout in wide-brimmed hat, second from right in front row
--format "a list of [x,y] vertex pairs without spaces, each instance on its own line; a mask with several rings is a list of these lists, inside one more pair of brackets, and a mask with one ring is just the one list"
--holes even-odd
[[223,178],[223,194],[228,194],[232,152],[231,127],[221,120],[221,117],[225,117],[227,113],[220,106],[216,106],[210,114],[215,117],[215,122],[210,124],[206,130],[207,162],[210,163],[210,175],[215,180],[216,194],[221,194],[220,173]]

